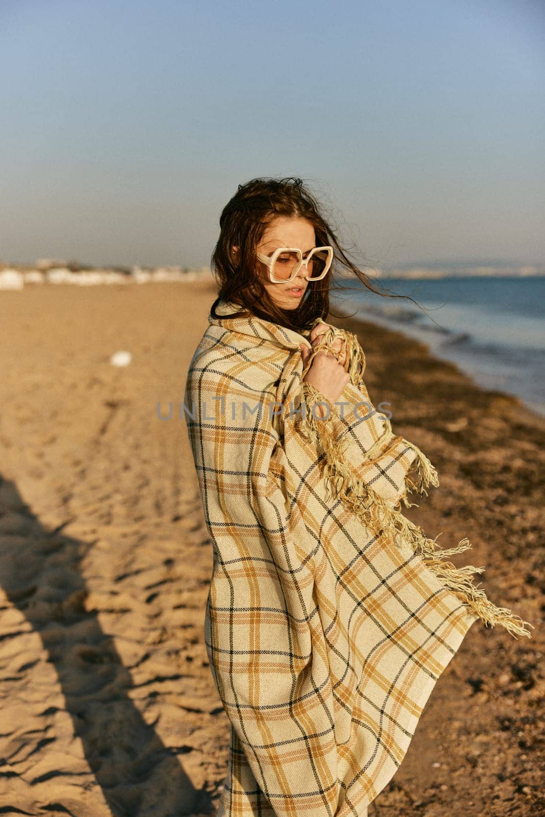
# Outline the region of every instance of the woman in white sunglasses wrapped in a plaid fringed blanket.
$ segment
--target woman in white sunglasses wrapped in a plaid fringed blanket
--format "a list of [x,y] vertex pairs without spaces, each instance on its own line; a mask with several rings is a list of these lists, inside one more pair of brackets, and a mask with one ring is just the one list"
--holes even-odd
[[[218,815],[367,815],[471,624],[529,636],[401,513],[438,484],[329,326],[346,257],[301,180],[239,185],[185,417],[213,542],[205,641],[230,719]],[[530,627],[532,625],[530,624]]]

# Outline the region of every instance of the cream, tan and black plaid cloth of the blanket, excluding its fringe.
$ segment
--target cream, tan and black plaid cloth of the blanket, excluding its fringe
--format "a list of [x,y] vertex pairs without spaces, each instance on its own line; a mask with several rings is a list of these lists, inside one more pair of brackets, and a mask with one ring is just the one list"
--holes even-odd
[[[327,498],[320,455],[287,414],[307,338],[256,318],[209,324],[184,401],[213,542],[204,637],[231,725],[218,817],[364,817],[476,616],[395,531]],[[341,399],[369,395],[349,383]],[[394,504],[413,450],[394,437],[364,462],[383,415],[346,408],[335,422]]]

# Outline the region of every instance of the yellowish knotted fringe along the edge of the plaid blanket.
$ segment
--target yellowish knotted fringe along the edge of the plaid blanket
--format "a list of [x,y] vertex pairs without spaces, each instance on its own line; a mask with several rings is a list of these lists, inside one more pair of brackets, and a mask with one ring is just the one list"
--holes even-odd
[[[322,322],[316,319],[313,326]],[[333,342],[342,340],[342,349],[346,351],[345,369],[351,376],[351,382],[356,386],[362,385],[362,378],[365,369],[364,350],[354,333],[345,329],[329,328],[320,336],[317,343],[310,352],[310,358],[303,369],[302,377],[310,368],[312,359],[319,350],[327,350],[333,355],[340,354],[335,349]],[[494,605],[483,589],[473,584],[475,573],[482,573],[484,567],[474,567],[466,565],[456,567],[448,560],[454,553],[462,553],[471,549],[471,544],[467,538],[458,542],[457,547],[447,549],[440,548],[436,544],[436,539],[428,538],[422,528],[408,520],[401,512],[401,503],[404,507],[413,507],[415,502],[410,503],[407,496],[410,492],[416,491],[419,494],[427,495],[427,488],[430,485],[439,485],[439,478],[436,468],[429,459],[418,448],[418,446],[404,440],[403,437],[394,437],[391,431],[390,422],[386,419],[385,433],[380,440],[373,445],[372,449],[366,452],[369,462],[376,461],[386,448],[390,447],[391,440],[403,440],[416,453],[416,458],[411,465],[409,473],[405,479],[404,493],[395,505],[388,503],[386,499],[379,496],[367,485],[363,479],[355,474],[350,462],[346,462],[344,457],[346,444],[343,440],[335,440],[331,414],[334,407],[325,395],[316,390],[314,386],[305,381],[302,382],[303,394],[305,396],[306,410],[299,418],[298,429],[306,439],[315,440],[319,449],[325,453],[324,477],[331,498],[340,499],[345,507],[359,516],[366,525],[371,526],[377,532],[380,529],[390,529],[394,533],[394,541],[398,547],[401,544],[408,545],[415,553],[422,557],[432,573],[440,580],[444,587],[448,587],[464,605],[480,618],[485,627],[494,627],[499,624],[511,633],[511,636],[527,636],[531,638],[529,630],[525,629],[525,624],[534,629],[534,625],[523,621],[520,616],[515,615],[507,607],[497,607]],[[330,408],[328,419],[315,417],[314,406],[316,403],[325,403]],[[385,445],[386,444],[386,445]],[[418,507],[418,506],[417,506]],[[397,534],[397,535],[396,535]],[[438,534],[440,535],[440,534]],[[436,537],[437,538],[437,537]]]

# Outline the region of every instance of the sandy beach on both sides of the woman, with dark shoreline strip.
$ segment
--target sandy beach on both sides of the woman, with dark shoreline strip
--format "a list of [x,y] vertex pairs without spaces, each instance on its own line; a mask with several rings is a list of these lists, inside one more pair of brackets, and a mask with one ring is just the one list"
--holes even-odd
[[[206,280],[0,292],[0,814],[215,812],[229,721],[180,416],[215,297]],[[328,321],[358,334],[373,404],[439,472],[406,516],[441,547],[467,536],[453,561],[534,625],[471,627],[369,815],[545,815],[545,417],[400,333]]]

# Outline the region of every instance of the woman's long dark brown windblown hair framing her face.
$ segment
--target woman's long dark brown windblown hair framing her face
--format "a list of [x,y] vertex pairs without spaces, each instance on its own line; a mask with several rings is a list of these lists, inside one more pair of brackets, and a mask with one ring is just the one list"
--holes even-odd
[[[271,300],[259,277],[256,251],[267,225],[277,217],[301,217],[314,225],[316,246],[333,247],[333,262],[320,281],[306,288],[306,293],[294,310],[285,310]],[[233,248],[239,248],[233,252]],[[344,267],[360,279],[372,292],[383,297],[404,297],[385,288],[376,288],[373,282],[348,257],[332,227],[320,213],[315,197],[303,186],[301,179],[256,178],[239,185],[239,190],[221,211],[220,236],[212,252],[211,266],[218,284],[218,297],[212,304],[210,314],[217,318],[215,307],[220,300],[242,306],[237,313],[242,317],[256,315],[285,328],[300,332],[308,328],[316,318],[326,319],[330,313],[329,292],[346,291],[346,283],[339,285],[335,278],[337,270]],[[342,276],[346,279],[346,274]],[[415,303],[416,301],[413,301]],[[418,306],[418,305],[417,305]],[[346,317],[335,315],[334,317]],[[225,316],[224,316],[225,317]]]

